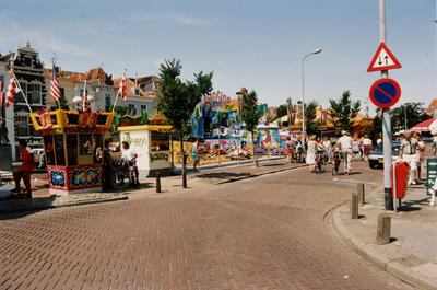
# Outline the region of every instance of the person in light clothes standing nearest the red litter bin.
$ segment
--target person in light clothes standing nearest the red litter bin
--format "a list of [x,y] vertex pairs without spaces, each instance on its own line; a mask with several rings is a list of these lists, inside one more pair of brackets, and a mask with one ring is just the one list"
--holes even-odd
[[409,185],[416,184],[416,173],[417,173],[416,154],[418,154],[420,159],[422,159],[422,151],[421,150],[417,151],[418,142],[415,138],[411,137],[410,130],[405,130],[403,136],[405,138],[401,141],[401,147],[399,149],[399,158],[402,159],[403,161],[406,161],[410,164]]

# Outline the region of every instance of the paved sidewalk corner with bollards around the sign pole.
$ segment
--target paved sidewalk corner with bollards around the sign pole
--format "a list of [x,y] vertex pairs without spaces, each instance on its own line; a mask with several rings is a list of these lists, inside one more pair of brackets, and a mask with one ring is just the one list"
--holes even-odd
[[[385,210],[383,186],[366,193],[358,219],[350,205],[334,212],[340,236],[358,254],[391,275],[423,289],[437,289],[437,206],[430,207],[425,181],[410,186],[398,212]],[[378,216],[391,217],[390,243],[377,245]]]

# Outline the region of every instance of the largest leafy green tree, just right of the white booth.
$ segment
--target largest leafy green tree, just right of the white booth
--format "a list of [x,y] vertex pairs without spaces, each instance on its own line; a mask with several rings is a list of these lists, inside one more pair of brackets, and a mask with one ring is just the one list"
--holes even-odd
[[[184,156],[184,125],[190,120],[196,105],[201,101],[202,95],[213,90],[213,72],[203,74],[194,73],[196,81],[182,82],[179,79],[182,66],[180,60],[165,60],[161,65],[160,77],[162,78],[161,95],[158,95],[157,108],[169,120],[176,132],[179,135],[181,153]],[[185,159],[182,158],[182,171],[185,171]]]

